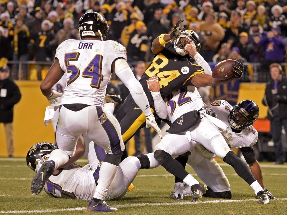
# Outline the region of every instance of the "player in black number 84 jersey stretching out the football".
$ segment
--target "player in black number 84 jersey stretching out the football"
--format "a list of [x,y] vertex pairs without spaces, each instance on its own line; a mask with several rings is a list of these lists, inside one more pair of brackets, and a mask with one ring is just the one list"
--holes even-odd
[[[211,75],[206,75],[200,65],[191,63],[191,58],[197,54],[201,44],[194,31],[183,31],[185,26],[182,25],[182,22],[183,20],[179,21],[170,34],[161,34],[152,42],[154,59],[139,80],[148,97],[151,109],[154,103],[146,80],[152,76],[159,77],[160,93],[162,97],[166,97],[173,91],[188,85],[196,87],[221,85],[235,78],[241,78],[243,75],[243,65],[240,67],[235,65],[234,77],[218,80],[212,78]],[[152,112],[154,112],[153,109]],[[124,142],[127,142],[137,129],[144,127],[146,120],[131,95],[127,96],[119,108],[116,118],[120,122]]]

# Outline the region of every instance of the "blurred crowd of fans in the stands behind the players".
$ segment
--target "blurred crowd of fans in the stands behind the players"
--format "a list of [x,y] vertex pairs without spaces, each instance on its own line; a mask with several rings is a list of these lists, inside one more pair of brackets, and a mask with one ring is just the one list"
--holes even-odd
[[[127,48],[128,62],[152,58],[150,42],[184,19],[201,38],[208,62],[240,59],[269,64],[287,62],[287,5],[284,0],[0,0],[0,58],[52,62],[57,46],[79,39],[78,19],[101,13],[109,39]],[[12,77],[18,78],[18,64]],[[38,79],[45,65],[37,64]],[[28,67],[22,65],[28,79]]]

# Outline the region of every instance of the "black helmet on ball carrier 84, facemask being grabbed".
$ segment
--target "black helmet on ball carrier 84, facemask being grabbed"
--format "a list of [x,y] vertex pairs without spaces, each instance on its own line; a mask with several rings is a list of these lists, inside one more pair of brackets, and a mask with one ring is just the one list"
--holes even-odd
[[[200,47],[201,47],[201,43],[200,43],[200,39],[199,39],[199,36],[197,35],[197,33],[195,33],[192,30],[185,30],[185,31],[181,32],[178,37],[174,38],[174,49],[175,49],[175,51],[177,52],[177,54],[184,56],[187,54],[187,52],[185,52],[183,50],[185,43],[180,42],[180,39],[185,40],[186,42],[189,42],[189,40],[193,41],[195,46],[196,46],[197,52],[199,52]],[[186,39],[188,39],[188,40],[186,40]]]

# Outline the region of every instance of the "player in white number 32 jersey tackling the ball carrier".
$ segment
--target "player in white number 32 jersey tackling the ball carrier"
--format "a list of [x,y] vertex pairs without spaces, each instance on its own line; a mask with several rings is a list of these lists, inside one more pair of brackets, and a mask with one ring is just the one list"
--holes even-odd
[[[191,79],[191,83],[197,86],[198,78],[204,79],[205,76],[209,75],[196,75]],[[201,80],[201,83],[204,80]],[[183,154],[195,145],[201,144],[234,168],[235,172],[252,187],[259,198],[259,203],[269,203],[266,191],[256,181],[247,165],[230,150],[224,137],[220,134],[226,130],[227,125],[206,114],[196,87],[189,86],[178,90],[163,100],[159,92],[158,77],[150,78],[147,83],[154,99],[156,114],[162,119],[168,117],[172,123],[178,124],[177,127],[171,126],[168,130],[169,133],[156,145],[154,158],[168,172],[191,186],[191,201],[200,198],[205,193],[206,186],[193,178],[172,157]]]

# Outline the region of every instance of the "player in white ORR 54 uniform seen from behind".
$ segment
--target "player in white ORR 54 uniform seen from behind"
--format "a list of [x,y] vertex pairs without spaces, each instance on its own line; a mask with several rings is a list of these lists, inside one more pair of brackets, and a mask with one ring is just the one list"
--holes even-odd
[[[103,111],[104,96],[111,73],[123,81],[131,96],[143,112],[146,125],[160,134],[148,99],[129,65],[125,48],[112,40],[106,40],[109,27],[102,15],[85,13],[79,19],[80,40],[66,40],[57,48],[55,62],[42,81],[40,89],[50,103],[62,94],[51,88],[65,74],[67,86],[59,107],[56,142],[64,154],[50,157],[32,179],[31,191],[37,195],[54,169],[65,164],[75,153],[81,134],[100,145],[107,155],[102,163],[100,179],[89,211],[118,211],[104,202],[104,197],[115,177],[122,151],[125,149],[121,128],[116,118]],[[106,40],[106,41],[104,41]],[[53,108],[55,110],[55,108]],[[45,120],[51,120],[53,114]],[[55,162],[53,159],[57,159]],[[59,158],[62,160],[59,161]]]

